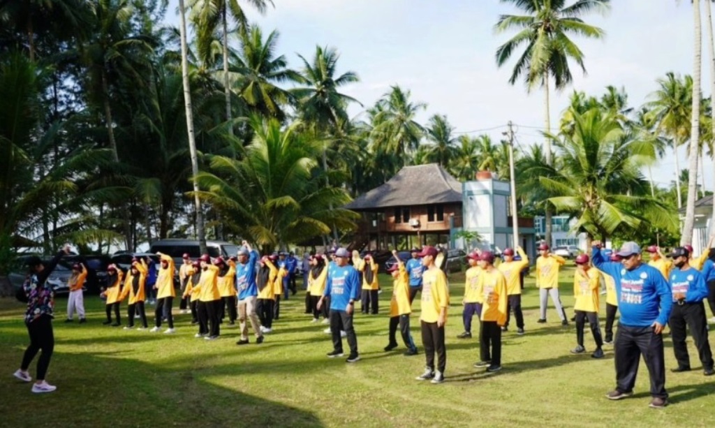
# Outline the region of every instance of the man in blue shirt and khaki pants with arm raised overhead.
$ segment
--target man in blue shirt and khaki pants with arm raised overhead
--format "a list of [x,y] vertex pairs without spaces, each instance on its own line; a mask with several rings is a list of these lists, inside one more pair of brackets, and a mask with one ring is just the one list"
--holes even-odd
[[251,328],[256,334],[256,343],[263,343],[261,324],[256,314],[256,299],[258,287],[256,285],[256,261],[258,253],[251,249],[248,242],[243,242],[243,247],[238,250],[236,264],[236,290],[238,292],[238,322],[241,328],[241,339],[237,345],[248,343],[248,327],[246,319],[250,319]]

